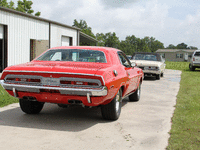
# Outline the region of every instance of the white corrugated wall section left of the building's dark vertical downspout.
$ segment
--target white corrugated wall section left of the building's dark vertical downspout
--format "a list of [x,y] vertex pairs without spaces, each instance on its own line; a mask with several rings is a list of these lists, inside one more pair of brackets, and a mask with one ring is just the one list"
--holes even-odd
[[8,66],[30,61],[30,39],[49,38],[47,22],[0,11],[0,24],[8,26]]

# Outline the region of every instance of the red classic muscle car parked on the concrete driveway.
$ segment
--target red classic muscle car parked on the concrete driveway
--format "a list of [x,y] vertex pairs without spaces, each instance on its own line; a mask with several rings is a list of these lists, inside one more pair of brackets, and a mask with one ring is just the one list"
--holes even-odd
[[19,98],[21,110],[39,113],[45,102],[101,106],[102,116],[117,120],[122,99],[140,99],[142,69],[114,48],[70,46],[45,51],[33,61],[7,67],[0,83]]

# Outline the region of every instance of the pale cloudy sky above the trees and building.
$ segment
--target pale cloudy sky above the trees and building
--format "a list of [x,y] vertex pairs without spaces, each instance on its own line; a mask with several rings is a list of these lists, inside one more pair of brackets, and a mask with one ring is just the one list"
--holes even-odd
[[[9,1],[9,0],[8,0]],[[13,0],[15,6],[17,0]],[[199,0],[32,0],[42,18],[73,25],[85,20],[92,32],[115,32],[120,40],[154,37],[167,47],[185,43],[200,49]]]

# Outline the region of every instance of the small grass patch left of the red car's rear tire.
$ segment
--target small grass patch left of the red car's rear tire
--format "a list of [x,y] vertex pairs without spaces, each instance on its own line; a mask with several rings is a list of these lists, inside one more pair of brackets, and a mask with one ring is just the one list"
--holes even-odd
[[0,107],[17,102],[19,102],[19,100],[10,96],[0,85]]

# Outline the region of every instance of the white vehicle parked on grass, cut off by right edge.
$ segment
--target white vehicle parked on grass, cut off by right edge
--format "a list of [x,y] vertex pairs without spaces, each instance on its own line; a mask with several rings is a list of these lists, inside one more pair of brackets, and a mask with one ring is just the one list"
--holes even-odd
[[200,50],[194,51],[189,64],[190,71],[194,71],[196,68],[200,68]]

